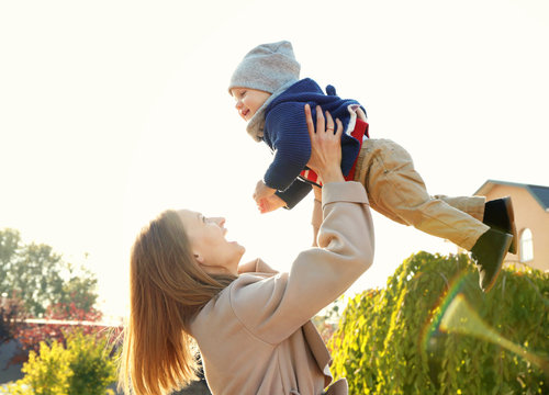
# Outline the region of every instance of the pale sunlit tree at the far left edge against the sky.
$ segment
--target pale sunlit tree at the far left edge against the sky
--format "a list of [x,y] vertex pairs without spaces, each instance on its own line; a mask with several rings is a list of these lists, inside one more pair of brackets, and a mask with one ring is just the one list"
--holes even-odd
[[56,303],[89,309],[98,297],[96,286],[91,272],[78,271],[51,246],[25,245],[18,230],[0,230],[0,293],[23,301],[30,315],[40,317]]

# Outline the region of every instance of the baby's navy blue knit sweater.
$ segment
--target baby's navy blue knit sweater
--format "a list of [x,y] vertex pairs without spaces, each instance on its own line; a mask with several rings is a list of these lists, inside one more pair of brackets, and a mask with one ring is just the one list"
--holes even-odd
[[[282,193],[279,195],[287,203],[294,200],[291,196],[294,194],[292,190],[299,190],[300,196],[295,196],[299,200],[303,199],[310,190],[309,188],[305,191],[305,188],[299,184],[292,185],[311,158],[311,139],[304,113],[305,103],[311,105],[314,121],[316,120],[315,108],[321,105],[324,111],[329,111],[334,120],[341,121],[344,131],[347,129],[350,120],[348,106],[351,104],[360,105],[356,100],[340,99],[332,86],[326,87],[326,93],[314,80],[305,78],[274,98],[265,110],[262,139],[271,148],[274,158],[265,173],[264,181],[268,187],[281,191]],[[362,111],[365,110],[362,109]],[[344,176],[349,173],[359,149],[360,142],[346,133],[341,135],[341,171]],[[284,193],[287,190],[288,192]],[[301,196],[301,194],[303,195]]]

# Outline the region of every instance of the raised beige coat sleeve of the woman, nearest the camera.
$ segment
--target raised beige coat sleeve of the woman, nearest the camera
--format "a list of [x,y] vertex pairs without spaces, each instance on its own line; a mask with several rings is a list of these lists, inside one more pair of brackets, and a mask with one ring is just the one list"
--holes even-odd
[[231,305],[246,329],[279,343],[343,294],[373,260],[373,227],[363,187],[334,182],[323,188],[318,248],[301,252],[290,272],[258,281],[240,278]]

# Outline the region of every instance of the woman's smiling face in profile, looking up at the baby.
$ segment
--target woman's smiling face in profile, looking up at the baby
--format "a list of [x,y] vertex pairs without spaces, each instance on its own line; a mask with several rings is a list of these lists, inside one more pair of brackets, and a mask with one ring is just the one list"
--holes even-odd
[[225,239],[225,218],[204,217],[190,210],[178,212],[191,244],[194,258],[209,274],[237,275],[245,248]]

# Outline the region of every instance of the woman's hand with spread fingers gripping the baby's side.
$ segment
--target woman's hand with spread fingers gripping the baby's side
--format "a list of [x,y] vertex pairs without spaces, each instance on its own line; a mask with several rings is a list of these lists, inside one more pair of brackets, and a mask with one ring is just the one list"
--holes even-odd
[[341,173],[341,121],[336,120],[337,129],[334,133],[332,115],[326,111],[325,122],[322,109],[317,105],[315,131],[309,104],[305,104],[305,119],[311,137],[311,159],[307,167],[318,174],[323,183],[345,181]]

